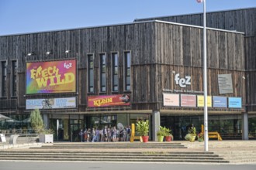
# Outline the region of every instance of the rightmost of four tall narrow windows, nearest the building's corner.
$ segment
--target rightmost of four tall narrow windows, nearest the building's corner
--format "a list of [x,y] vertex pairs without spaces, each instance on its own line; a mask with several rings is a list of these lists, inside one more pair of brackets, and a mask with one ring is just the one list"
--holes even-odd
[[124,53],[124,88],[130,90],[130,52]]

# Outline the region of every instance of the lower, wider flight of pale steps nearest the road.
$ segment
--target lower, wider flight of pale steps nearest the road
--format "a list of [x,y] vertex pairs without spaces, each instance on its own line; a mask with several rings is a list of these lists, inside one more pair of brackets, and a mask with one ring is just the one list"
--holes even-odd
[[72,161],[72,162],[214,162],[228,163],[213,153],[154,153],[143,152],[77,152],[77,151],[2,151],[1,160],[26,161]]

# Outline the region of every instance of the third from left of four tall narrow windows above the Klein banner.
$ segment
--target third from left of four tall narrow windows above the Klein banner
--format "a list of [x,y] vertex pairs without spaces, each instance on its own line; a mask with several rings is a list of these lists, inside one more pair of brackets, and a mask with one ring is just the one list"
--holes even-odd
[[118,55],[112,53],[112,91],[118,91]]

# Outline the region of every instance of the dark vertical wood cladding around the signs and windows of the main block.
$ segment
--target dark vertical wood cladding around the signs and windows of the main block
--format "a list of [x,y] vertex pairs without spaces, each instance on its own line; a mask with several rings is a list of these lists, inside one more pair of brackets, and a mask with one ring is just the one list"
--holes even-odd
[[[209,85],[216,86],[218,73],[232,73],[238,80],[244,71],[244,38],[240,33],[208,30]],[[70,49],[70,53],[64,53]],[[46,52],[52,54],[47,55]],[[27,56],[34,52],[35,55]],[[131,90],[123,87],[123,57],[131,54]],[[99,91],[99,54],[106,54],[106,93]],[[119,91],[111,88],[111,54],[119,56]],[[77,110],[159,110],[163,88],[175,89],[172,71],[192,75],[195,82],[191,90],[202,90],[202,28],[178,26],[163,22],[137,22],[119,26],[103,26],[56,32],[39,32],[0,37],[0,61],[18,61],[18,107],[25,110],[26,99],[78,97]],[[87,58],[94,56],[94,93],[87,89]],[[26,62],[77,59],[77,93],[26,95]],[[9,75],[10,76],[10,75]],[[236,81],[237,82],[237,81]],[[240,80],[238,81],[240,82]],[[241,83],[243,84],[243,83]],[[170,87],[168,87],[170,86]],[[235,83],[232,96],[243,97],[244,87]],[[89,95],[130,93],[131,107],[88,108]],[[209,93],[217,95],[218,89],[209,86]],[[231,94],[230,94],[231,95]],[[7,97],[8,99],[10,98]],[[52,112],[54,113],[54,112]]]

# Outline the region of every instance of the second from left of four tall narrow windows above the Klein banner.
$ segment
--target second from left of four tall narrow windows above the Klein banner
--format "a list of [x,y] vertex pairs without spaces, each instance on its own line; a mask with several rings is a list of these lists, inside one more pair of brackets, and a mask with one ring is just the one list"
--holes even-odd
[[100,92],[106,92],[106,54],[99,54]]

